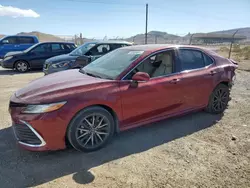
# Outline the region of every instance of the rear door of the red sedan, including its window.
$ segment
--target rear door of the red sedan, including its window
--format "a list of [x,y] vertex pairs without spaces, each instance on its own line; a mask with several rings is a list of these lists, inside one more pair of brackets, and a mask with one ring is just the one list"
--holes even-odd
[[206,106],[214,88],[216,69],[213,59],[200,50],[180,48],[178,57],[182,71],[182,92],[186,109]]

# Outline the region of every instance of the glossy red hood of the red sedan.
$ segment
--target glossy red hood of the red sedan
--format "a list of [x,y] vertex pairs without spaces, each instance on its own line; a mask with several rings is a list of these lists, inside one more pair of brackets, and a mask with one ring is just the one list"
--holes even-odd
[[102,82],[110,82],[110,80],[87,76],[73,69],[34,80],[18,90],[15,97],[27,104],[55,102],[65,100],[77,92],[93,90]]

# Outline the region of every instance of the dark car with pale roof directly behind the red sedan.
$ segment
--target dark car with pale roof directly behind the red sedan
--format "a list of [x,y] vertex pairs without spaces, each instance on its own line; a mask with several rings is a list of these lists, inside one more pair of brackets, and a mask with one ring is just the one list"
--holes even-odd
[[125,41],[87,42],[69,54],[47,59],[43,72],[47,75],[62,70],[81,68],[112,50],[130,45],[131,43]]

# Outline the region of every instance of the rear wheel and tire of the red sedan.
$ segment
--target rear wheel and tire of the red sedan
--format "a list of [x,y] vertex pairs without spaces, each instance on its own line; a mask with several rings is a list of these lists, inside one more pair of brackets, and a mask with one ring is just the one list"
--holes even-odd
[[209,97],[206,111],[212,114],[220,114],[225,111],[230,99],[229,87],[225,84],[219,84]]

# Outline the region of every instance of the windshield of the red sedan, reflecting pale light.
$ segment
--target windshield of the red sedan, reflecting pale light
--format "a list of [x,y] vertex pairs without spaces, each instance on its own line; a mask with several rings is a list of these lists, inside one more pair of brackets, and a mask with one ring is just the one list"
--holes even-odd
[[143,52],[120,48],[96,59],[81,70],[97,77],[116,79]]

